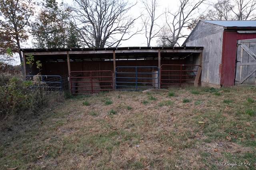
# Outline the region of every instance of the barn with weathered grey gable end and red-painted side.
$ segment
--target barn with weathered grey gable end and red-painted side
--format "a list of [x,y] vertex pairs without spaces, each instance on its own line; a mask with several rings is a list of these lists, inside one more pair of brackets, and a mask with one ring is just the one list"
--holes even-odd
[[255,20],[201,20],[183,46],[204,47],[202,86],[256,85],[255,38]]

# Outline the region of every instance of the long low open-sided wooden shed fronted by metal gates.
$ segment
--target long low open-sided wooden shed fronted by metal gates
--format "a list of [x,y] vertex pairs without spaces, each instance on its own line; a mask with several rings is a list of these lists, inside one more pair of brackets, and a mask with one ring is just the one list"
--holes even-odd
[[[189,83],[186,79],[195,78],[201,65],[202,50],[203,47],[115,47],[21,51],[26,65],[26,75],[35,75],[39,72],[35,64],[32,67],[26,64],[26,57],[31,54],[34,61],[41,61],[42,75],[60,75],[64,77],[63,79],[73,79],[75,83],[78,83],[78,77],[91,77],[91,82],[83,79],[82,83],[91,83],[90,86],[94,86],[93,90],[96,91],[113,86],[112,80],[115,84],[113,88],[116,89],[137,89],[139,86],[159,88],[161,85],[165,87],[177,81],[180,84]],[[169,77],[161,75],[161,70],[165,70]],[[186,75],[189,71],[191,74]],[[130,84],[129,87],[127,84]],[[82,91],[75,89],[78,85],[69,85],[72,91]]]

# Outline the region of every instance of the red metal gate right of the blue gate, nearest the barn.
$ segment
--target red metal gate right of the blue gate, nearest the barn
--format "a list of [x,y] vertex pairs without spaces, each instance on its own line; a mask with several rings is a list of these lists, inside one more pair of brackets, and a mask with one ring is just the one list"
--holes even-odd
[[200,65],[163,64],[160,73],[160,88],[173,85],[194,84]]

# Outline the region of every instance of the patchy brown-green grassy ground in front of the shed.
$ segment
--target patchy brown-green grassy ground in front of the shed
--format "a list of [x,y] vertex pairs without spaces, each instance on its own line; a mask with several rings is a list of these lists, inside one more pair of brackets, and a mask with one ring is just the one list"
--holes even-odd
[[256,87],[77,96],[2,134],[0,169],[255,169]]

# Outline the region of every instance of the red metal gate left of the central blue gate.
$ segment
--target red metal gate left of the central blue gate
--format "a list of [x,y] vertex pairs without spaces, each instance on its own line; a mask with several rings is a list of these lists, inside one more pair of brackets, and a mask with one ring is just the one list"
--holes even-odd
[[114,90],[113,72],[110,70],[71,71],[69,77],[71,94],[93,94]]

